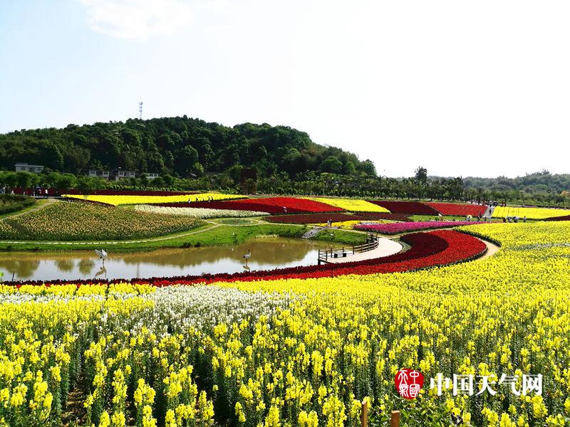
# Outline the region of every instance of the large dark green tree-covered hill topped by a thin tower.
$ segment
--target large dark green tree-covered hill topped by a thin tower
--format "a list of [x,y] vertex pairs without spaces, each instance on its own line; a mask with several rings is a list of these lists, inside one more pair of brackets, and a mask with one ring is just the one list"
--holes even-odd
[[6,170],[27,162],[73,174],[121,167],[187,177],[243,166],[257,168],[261,177],[306,171],[375,175],[372,162],[315,144],[291,127],[225,127],[186,116],[21,130],[0,135],[0,150],[0,169]]

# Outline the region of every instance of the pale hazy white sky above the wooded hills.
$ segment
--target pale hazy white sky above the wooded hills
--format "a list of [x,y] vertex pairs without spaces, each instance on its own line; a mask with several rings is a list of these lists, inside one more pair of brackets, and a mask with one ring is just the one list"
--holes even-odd
[[570,173],[570,2],[0,0],[0,132],[288,125],[378,173]]

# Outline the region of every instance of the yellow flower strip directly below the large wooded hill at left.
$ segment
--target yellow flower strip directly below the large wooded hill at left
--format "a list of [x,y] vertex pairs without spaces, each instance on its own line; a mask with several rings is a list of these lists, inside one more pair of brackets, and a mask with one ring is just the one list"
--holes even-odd
[[98,201],[99,203],[110,204],[113,206],[125,204],[182,203],[187,201],[208,201],[209,199],[214,199],[214,201],[244,199],[244,196],[240,196],[238,194],[221,193],[184,194],[179,196],[96,196],[93,194],[82,196],[81,194],[65,194],[63,197]]

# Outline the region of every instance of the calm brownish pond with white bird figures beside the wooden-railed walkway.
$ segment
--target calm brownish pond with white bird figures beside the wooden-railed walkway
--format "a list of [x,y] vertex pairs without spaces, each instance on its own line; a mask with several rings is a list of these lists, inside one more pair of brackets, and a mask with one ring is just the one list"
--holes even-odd
[[[338,246],[338,245],[337,245]],[[77,280],[150,278],[246,270],[244,254],[252,251],[250,270],[313,265],[318,249],[330,243],[295,238],[256,238],[234,246],[160,249],[151,252],[113,253],[103,261],[95,252],[0,253],[3,280]]]

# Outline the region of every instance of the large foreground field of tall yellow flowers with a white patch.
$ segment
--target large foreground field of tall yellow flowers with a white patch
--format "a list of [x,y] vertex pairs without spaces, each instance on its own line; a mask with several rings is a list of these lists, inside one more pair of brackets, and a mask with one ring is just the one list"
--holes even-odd
[[[466,226],[490,258],[414,273],[208,286],[0,287],[0,420],[8,425],[566,426],[570,224]],[[395,390],[419,369],[418,399]],[[482,396],[442,373],[490,375]],[[498,384],[502,374],[517,376]],[[513,394],[541,374],[542,394]],[[475,391],[481,387],[475,381]],[[80,390],[81,408],[66,410]],[[82,424],[82,425],[83,425]]]

